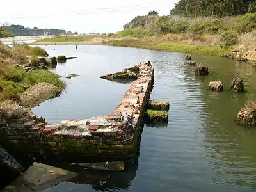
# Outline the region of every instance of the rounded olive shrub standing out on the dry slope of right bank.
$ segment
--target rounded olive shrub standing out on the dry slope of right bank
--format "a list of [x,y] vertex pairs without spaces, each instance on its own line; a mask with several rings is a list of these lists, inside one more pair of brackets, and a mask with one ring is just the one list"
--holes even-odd
[[227,48],[232,45],[238,44],[238,35],[233,31],[225,31],[220,36],[221,47]]

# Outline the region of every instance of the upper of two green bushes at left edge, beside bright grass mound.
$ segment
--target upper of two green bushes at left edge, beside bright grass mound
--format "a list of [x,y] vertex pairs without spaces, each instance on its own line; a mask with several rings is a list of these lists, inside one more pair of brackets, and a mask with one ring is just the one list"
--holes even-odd
[[20,82],[26,76],[26,72],[13,66],[1,66],[0,77],[6,81]]

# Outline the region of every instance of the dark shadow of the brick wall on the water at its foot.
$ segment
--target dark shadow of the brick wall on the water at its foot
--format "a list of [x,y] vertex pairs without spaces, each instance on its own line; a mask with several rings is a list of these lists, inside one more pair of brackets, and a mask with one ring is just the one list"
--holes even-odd
[[[61,191],[62,188],[67,188],[70,184],[75,184],[78,188],[72,186],[77,191],[82,191],[79,187],[89,185],[95,191],[119,191],[122,189],[129,189],[132,180],[136,177],[138,170],[138,161],[140,157],[140,143],[143,132],[145,120],[141,125],[141,133],[138,141],[138,150],[134,156],[133,161],[125,164],[124,172],[110,172],[101,170],[84,169],[81,166],[60,166],[72,172],[76,172],[77,176],[72,179],[65,180],[60,184],[47,189],[47,191]],[[64,185],[64,186],[63,186]],[[68,186],[66,186],[68,185]]]

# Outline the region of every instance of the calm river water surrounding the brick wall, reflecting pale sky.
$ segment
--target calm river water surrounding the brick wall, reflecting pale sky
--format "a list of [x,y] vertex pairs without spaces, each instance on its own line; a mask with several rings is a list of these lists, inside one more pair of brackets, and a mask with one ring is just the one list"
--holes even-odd
[[[47,191],[255,191],[256,129],[238,127],[234,119],[246,95],[256,93],[255,68],[225,58],[193,55],[209,66],[209,76],[195,77],[184,54],[145,49],[79,45],[42,45],[50,55],[77,56],[53,72],[66,76],[61,97],[33,108],[48,122],[90,118],[113,111],[129,84],[99,79],[143,60],[155,68],[151,99],[170,102],[168,125],[145,125],[138,161],[126,172],[88,172]],[[246,93],[228,91],[235,76],[244,79]],[[226,90],[207,90],[221,79]],[[104,188],[98,181],[106,181]]]

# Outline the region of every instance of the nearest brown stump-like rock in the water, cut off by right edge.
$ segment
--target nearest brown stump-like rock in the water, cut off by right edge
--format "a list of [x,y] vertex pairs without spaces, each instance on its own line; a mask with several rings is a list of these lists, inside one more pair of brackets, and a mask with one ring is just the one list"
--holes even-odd
[[256,102],[248,101],[237,114],[236,122],[239,125],[255,127],[256,125]]

